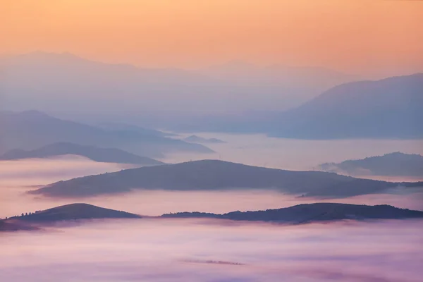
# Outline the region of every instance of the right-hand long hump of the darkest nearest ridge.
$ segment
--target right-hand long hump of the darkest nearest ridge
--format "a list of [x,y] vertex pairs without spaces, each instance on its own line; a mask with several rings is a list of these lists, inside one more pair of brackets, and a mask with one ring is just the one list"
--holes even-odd
[[272,221],[279,223],[312,223],[316,221],[338,221],[343,219],[423,219],[423,212],[398,209],[386,204],[367,206],[362,204],[315,203],[298,204],[283,209],[267,209],[257,212],[230,212],[209,214],[182,212],[164,214],[166,218],[215,218],[236,221]]

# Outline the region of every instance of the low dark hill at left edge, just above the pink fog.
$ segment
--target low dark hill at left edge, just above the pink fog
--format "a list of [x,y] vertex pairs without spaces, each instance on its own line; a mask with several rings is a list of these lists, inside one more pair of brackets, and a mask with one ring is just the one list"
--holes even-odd
[[156,166],[164,164],[161,161],[147,157],[140,157],[121,149],[82,146],[66,142],[54,143],[31,151],[13,149],[0,156],[0,160],[49,158],[66,154],[87,157],[93,161],[106,163],[140,164],[142,166]]

